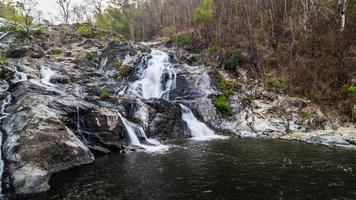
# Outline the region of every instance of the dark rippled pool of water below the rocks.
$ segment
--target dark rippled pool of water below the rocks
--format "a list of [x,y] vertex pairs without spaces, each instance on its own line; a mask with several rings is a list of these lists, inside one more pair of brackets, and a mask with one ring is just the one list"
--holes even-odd
[[296,141],[186,141],[53,176],[38,199],[356,199],[356,151]]

